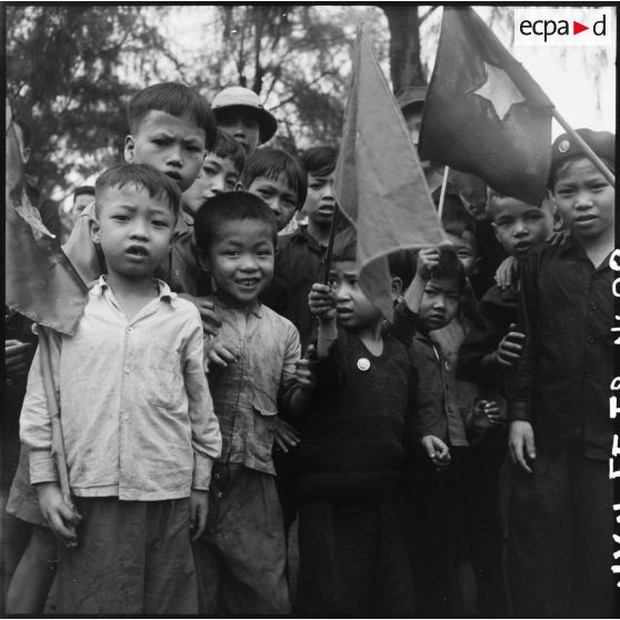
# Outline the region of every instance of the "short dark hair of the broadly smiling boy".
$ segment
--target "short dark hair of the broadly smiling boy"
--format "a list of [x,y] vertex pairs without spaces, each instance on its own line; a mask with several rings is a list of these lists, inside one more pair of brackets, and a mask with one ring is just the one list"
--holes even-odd
[[228,191],[208,198],[193,220],[196,244],[208,252],[224,222],[259,220],[271,228],[273,248],[278,244],[278,222],[273,211],[258,196],[247,191]]

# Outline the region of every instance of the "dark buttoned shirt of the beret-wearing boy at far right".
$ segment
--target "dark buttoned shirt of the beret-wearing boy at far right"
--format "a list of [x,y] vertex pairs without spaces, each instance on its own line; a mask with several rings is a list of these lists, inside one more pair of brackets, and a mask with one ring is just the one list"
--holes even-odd
[[613,274],[569,237],[531,252],[521,270],[523,351],[508,386],[509,419],[530,421],[549,448],[609,457],[613,423]]

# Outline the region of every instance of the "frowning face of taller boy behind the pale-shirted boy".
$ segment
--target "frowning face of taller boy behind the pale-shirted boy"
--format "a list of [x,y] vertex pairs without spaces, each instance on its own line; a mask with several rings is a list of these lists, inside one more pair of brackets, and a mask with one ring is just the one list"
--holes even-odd
[[186,191],[202,166],[204,140],[204,130],[196,124],[192,114],[173,117],[151,110],[142,119],[136,136],[124,139],[124,159],[129,163],[150,163]]

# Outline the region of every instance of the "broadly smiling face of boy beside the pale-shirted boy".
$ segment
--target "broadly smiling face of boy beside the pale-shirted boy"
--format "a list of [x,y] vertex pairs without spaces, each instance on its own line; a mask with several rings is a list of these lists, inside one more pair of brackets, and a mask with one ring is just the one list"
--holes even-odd
[[271,281],[276,256],[272,230],[260,220],[232,220],[218,228],[206,267],[218,296],[231,306],[253,306]]

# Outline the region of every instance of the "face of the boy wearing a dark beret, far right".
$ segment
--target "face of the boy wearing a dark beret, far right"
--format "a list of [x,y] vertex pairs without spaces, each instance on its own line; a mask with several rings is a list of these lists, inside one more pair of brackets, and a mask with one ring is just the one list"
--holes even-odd
[[560,170],[553,200],[578,239],[592,240],[613,230],[616,191],[589,159],[576,159]]

